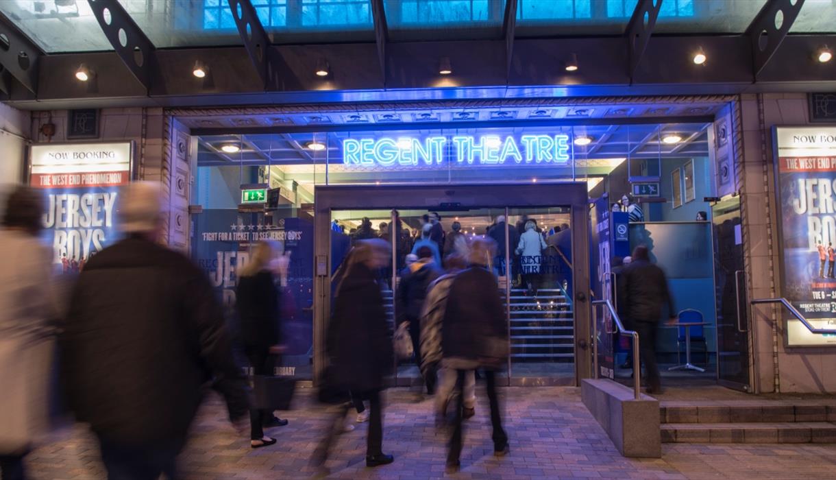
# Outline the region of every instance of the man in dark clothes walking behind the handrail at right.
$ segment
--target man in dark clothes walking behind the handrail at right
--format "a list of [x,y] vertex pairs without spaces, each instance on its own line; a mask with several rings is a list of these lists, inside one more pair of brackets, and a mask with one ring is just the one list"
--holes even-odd
[[668,318],[676,319],[673,299],[670,298],[665,272],[653,263],[647,247],[640,245],[633,250],[633,261],[620,275],[619,311],[623,311],[630,324],[639,333],[639,350],[647,370],[647,393],[661,391],[659,367],[656,365],[656,326],[662,317],[662,309],[668,306]]

